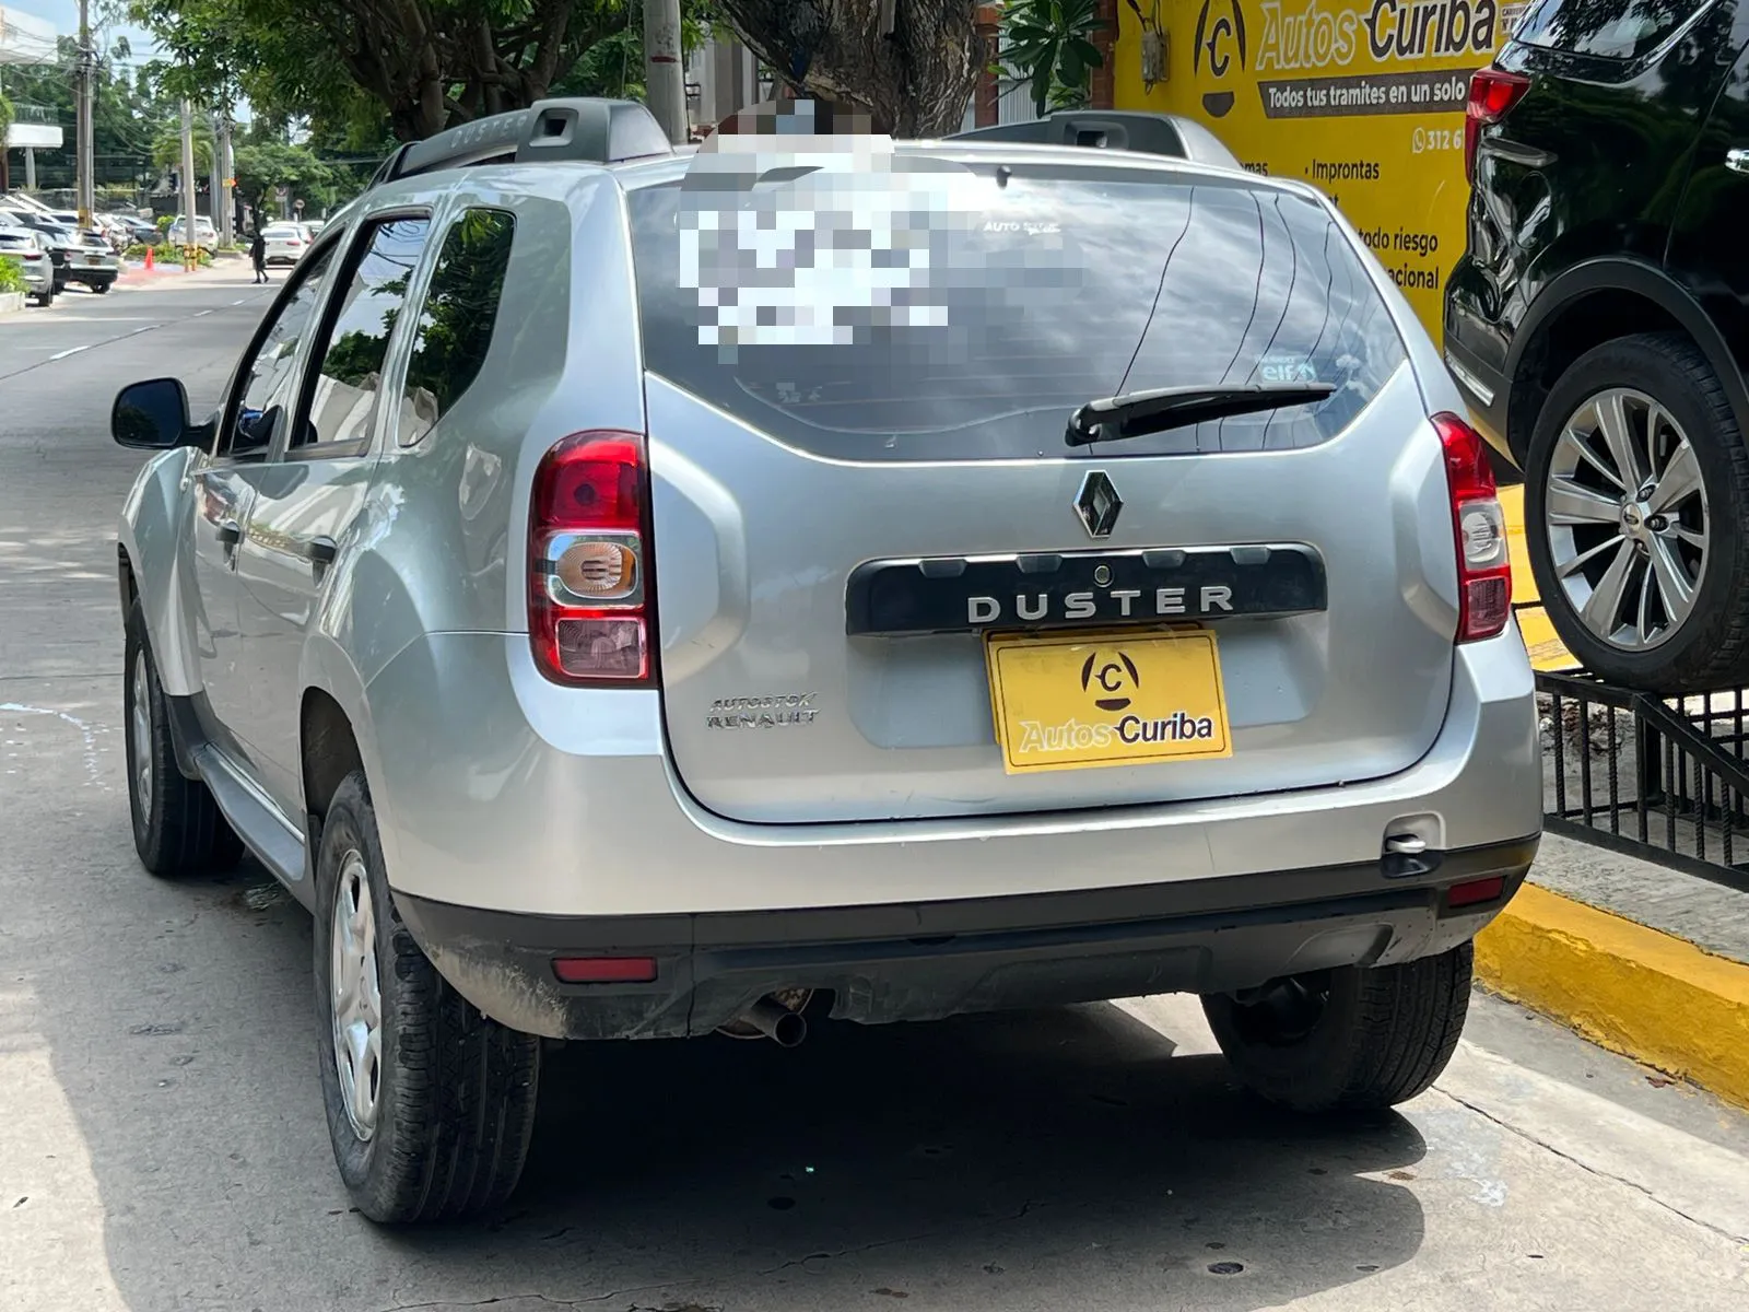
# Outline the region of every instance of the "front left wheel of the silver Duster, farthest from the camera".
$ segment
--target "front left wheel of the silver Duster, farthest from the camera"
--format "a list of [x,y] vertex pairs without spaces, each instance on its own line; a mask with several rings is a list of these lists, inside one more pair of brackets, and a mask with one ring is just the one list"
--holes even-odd
[[133,847],[152,875],[175,878],[229,869],[243,855],[213,794],[177,766],[170,705],[140,602],[128,607],[122,722],[128,749],[128,813]]

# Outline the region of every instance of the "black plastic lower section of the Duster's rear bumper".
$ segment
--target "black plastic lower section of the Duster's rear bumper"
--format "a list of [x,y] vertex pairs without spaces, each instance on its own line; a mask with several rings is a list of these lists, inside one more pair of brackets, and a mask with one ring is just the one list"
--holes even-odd
[[[1518,890],[1525,838],[1424,859],[1189,883],[937,903],[672,917],[523,917],[395,894],[437,969],[486,1015],[554,1039],[708,1034],[780,988],[862,1023],[1212,994],[1390,966],[1473,938]],[[1501,896],[1450,910],[1457,883]],[[554,957],[651,957],[656,980],[565,985]]]

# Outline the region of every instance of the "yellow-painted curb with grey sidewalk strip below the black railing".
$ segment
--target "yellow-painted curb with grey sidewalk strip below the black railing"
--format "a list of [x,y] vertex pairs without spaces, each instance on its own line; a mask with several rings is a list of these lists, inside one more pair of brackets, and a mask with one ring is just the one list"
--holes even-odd
[[1476,971],[1613,1051],[1749,1106],[1749,894],[1558,834]]

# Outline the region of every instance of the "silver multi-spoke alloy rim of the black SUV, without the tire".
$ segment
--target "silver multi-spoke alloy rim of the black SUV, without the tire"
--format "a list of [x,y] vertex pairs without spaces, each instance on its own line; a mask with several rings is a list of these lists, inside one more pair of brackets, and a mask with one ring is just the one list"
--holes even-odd
[[1579,623],[1621,651],[1669,642],[1707,570],[1707,488],[1676,416],[1655,397],[1609,388],[1579,406],[1544,486],[1544,532]]

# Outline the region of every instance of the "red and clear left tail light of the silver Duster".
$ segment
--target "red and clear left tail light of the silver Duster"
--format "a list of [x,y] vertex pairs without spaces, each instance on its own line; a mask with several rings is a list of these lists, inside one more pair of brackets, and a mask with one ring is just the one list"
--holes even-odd
[[560,684],[649,687],[649,462],[637,432],[581,432],[540,460],[528,506],[528,637]]

